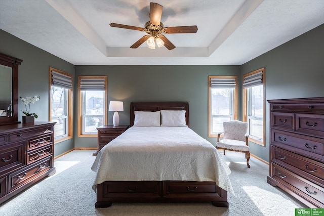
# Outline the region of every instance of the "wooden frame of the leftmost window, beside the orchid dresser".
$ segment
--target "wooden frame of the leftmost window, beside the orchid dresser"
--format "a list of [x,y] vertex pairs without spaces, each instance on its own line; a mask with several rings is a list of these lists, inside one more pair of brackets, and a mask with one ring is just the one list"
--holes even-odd
[[[49,121],[52,121],[52,71],[55,71],[57,73],[61,73],[64,74],[66,76],[71,77],[72,83],[73,83],[73,76],[69,73],[66,73],[64,71],[58,70],[56,68],[50,67],[50,91],[49,91]],[[66,129],[67,129],[67,133],[66,136],[61,136],[61,137],[54,137],[54,143],[60,143],[63,142],[65,140],[69,140],[72,139],[72,133],[73,133],[73,102],[72,102],[72,96],[73,96],[73,88],[72,89],[65,89],[66,90],[66,94],[67,94],[67,119],[66,119],[66,123],[67,125],[65,125]],[[54,133],[55,135],[55,133]]]

